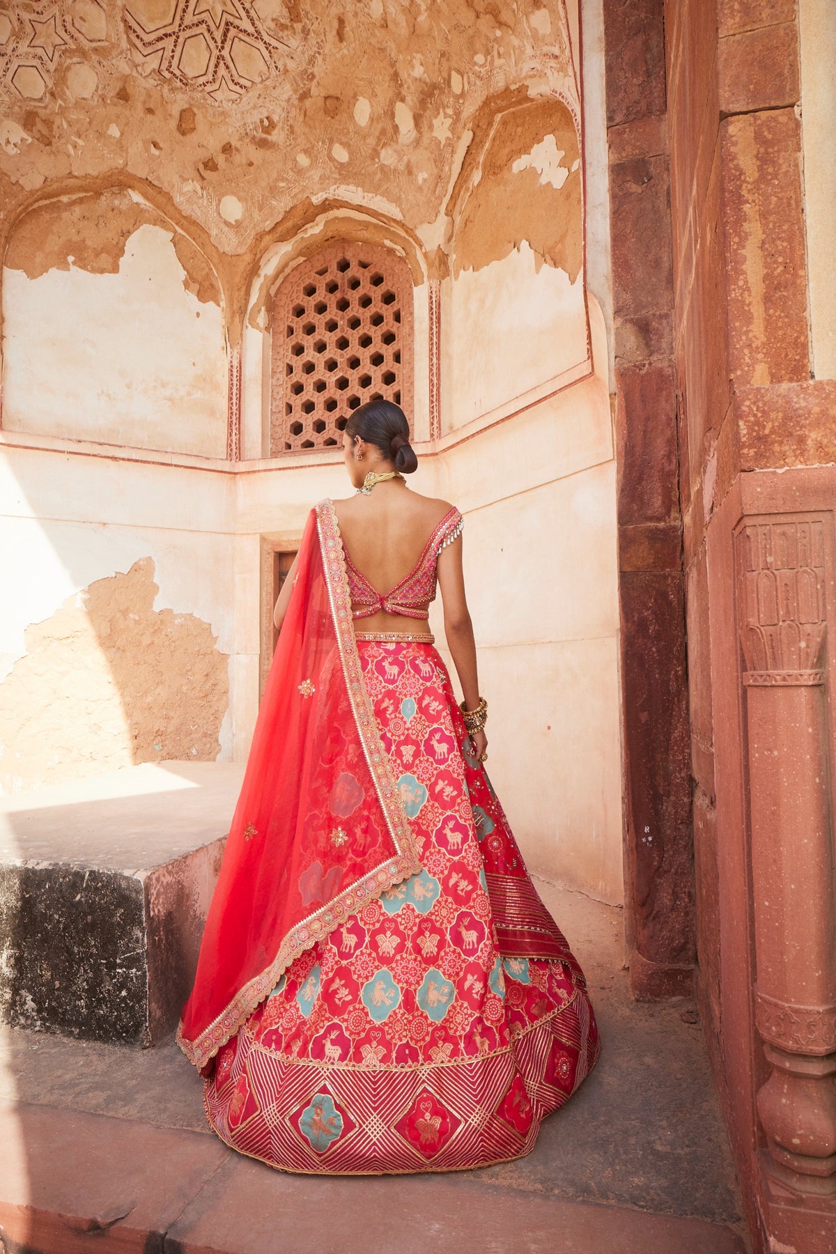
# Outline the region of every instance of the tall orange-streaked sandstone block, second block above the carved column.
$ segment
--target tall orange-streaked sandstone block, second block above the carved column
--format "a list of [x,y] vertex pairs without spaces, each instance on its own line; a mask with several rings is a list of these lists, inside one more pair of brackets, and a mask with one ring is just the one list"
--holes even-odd
[[808,379],[798,119],[727,118],[721,137],[731,371],[739,387]]

